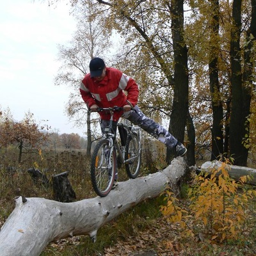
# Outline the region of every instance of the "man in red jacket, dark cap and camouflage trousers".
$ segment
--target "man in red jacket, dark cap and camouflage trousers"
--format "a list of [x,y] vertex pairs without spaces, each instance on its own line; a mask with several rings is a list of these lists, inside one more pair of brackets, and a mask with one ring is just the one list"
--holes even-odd
[[[80,93],[91,111],[97,108],[109,108],[114,106],[123,107],[124,111],[115,112],[113,126],[116,131],[118,119],[126,118],[132,124],[140,126],[148,134],[154,136],[168,148],[175,148],[177,156],[184,156],[187,149],[162,125],[148,118],[136,105],[138,102],[138,84],[116,68],[106,67],[104,60],[93,58],[90,61],[90,73],[84,76],[81,82]],[[127,92],[125,95],[124,91]],[[100,126],[102,132],[108,126],[110,115],[100,114]]]

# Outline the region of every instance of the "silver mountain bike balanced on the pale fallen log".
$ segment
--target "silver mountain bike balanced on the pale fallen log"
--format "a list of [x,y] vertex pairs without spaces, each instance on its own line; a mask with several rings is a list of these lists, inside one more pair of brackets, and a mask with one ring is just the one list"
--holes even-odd
[[[97,195],[104,197],[112,189],[117,166],[125,164],[125,170],[129,178],[135,179],[140,172],[141,164],[141,141],[140,127],[137,125],[117,123],[120,134],[125,129],[127,136],[120,134],[120,142],[116,139],[116,132],[113,131],[113,115],[115,111],[122,111],[123,108],[98,108],[97,112],[105,111],[110,113],[109,126],[93,150],[91,162],[92,186]],[[117,129],[116,129],[117,130]],[[123,130],[124,131],[124,130]],[[118,157],[116,156],[118,152]],[[117,161],[117,160],[120,161]],[[119,164],[118,164],[119,163]]]

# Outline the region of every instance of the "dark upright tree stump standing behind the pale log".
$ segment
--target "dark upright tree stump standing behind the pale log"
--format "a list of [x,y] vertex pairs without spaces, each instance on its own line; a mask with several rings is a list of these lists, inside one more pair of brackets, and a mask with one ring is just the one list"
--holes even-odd
[[76,193],[68,180],[68,172],[62,172],[52,178],[54,200],[69,203],[74,202]]

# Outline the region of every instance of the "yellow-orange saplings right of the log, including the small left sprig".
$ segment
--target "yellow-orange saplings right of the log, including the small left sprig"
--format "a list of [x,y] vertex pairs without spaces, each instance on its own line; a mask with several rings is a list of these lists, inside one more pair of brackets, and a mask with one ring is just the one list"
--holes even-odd
[[256,191],[246,189],[243,176],[236,182],[228,175],[227,163],[212,170],[211,175],[195,175],[188,189],[188,207],[179,205],[171,191],[166,191],[166,205],[161,212],[167,220],[179,223],[183,236],[198,236],[201,241],[223,243],[230,239],[243,240],[246,230],[246,212]]

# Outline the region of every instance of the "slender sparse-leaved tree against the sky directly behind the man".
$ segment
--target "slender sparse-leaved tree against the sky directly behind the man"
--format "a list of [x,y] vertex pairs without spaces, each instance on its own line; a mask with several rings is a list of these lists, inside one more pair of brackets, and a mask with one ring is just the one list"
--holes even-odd
[[85,1],[76,9],[77,31],[68,46],[59,45],[58,59],[62,65],[55,77],[56,85],[69,85],[74,88],[67,103],[67,115],[76,125],[86,125],[87,148],[86,154],[90,156],[92,148],[92,117],[90,109],[81,99],[79,86],[81,80],[88,72],[90,60],[95,56],[103,56],[108,52],[111,41],[108,31],[104,29],[104,22],[99,19],[100,12],[92,1]]

